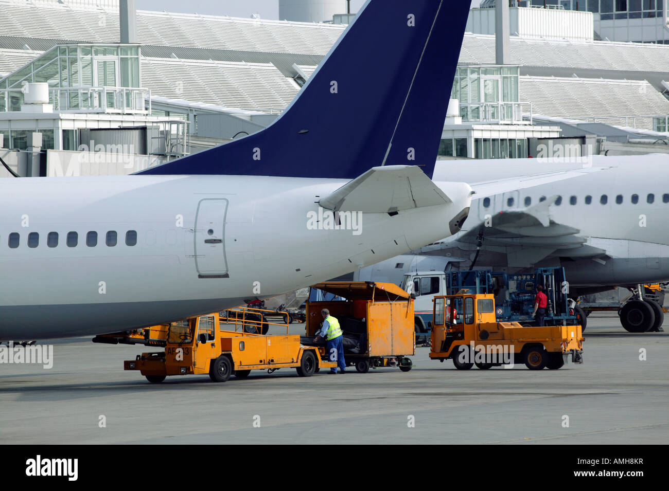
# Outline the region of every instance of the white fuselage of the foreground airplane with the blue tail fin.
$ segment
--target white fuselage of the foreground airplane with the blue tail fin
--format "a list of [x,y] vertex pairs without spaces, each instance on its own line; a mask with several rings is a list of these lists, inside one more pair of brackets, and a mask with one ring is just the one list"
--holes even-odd
[[[436,184],[452,203],[393,216],[363,213],[357,233],[308,226],[319,198],[347,182],[0,180],[0,339],[93,335],[272,297],[447,236],[450,220],[470,203],[468,185],[442,182]],[[68,244],[70,232],[76,245]],[[95,245],[89,232],[97,234]]]

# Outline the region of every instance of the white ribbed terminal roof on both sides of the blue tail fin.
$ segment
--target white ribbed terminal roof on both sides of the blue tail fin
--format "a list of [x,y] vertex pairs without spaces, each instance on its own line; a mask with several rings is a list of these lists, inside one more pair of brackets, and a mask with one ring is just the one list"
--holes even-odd
[[[278,112],[345,25],[137,11],[142,87],[152,96]],[[56,44],[116,43],[115,0],[0,0],[0,75]],[[27,48],[27,49],[26,49]],[[449,49],[449,47],[444,47]],[[510,37],[520,101],[548,116],[669,114],[669,45]],[[466,33],[462,65],[494,65],[494,35]],[[575,73],[578,77],[571,75]]]

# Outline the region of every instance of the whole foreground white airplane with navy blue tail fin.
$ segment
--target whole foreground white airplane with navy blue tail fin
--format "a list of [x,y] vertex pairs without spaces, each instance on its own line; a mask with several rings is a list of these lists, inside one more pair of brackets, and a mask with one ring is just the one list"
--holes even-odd
[[458,232],[472,188],[428,176],[468,10],[368,1],[246,138],[138,175],[1,180],[0,340],[220,311]]

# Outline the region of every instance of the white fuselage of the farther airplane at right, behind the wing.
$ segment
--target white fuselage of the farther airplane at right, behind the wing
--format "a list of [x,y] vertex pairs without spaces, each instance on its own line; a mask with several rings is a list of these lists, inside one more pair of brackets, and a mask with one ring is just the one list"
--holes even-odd
[[[440,254],[438,249],[446,251],[450,245],[458,246],[460,249],[452,250],[452,254],[469,258],[466,251],[474,251],[476,245],[463,244],[460,238],[484,222],[486,216],[522,212],[539,203],[541,198],[557,195],[561,200],[549,208],[551,222],[554,222],[550,229],[539,226],[535,234],[518,234],[522,229],[510,224],[506,226],[508,234],[494,235],[484,229],[484,251],[477,267],[518,269],[562,265],[567,269],[567,278],[572,285],[634,285],[668,280],[668,156],[595,156],[592,161],[594,167],[605,169],[551,184],[504,192],[487,200],[474,196],[470,216],[462,231],[444,240],[440,246],[423,248],[422,251]],[[456,161],[439,161],[435,179],[448,175],[470,183],[508,178],[518,178],[520,182],[522,176],[582,166],[541,162],[540,159],[504,160],[503,164],[500,160],[457,164]],[[559,232],[560,226],[565,227],[564,233]],[[523,248],[521,260],[527,259],[527,265],[513,265],[507,260],[507,254],[517,251],[518,247]],[[594,250],[605,251],[605,256],[597,255]],[[512,259],[512,256],[508,255],[508,258]]]

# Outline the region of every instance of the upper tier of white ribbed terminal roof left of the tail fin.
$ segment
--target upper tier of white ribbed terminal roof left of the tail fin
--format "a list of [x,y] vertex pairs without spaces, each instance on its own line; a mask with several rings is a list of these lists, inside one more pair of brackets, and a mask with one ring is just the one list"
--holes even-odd
[[[319,55],[328,52],[346,27],[143,10],[137,11],[136,20],[138,42],[145,45]],[[13,36],[117,43],[118,7],[0,0],[0,25]]]

